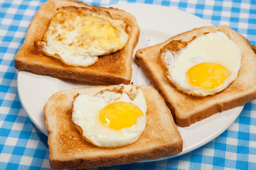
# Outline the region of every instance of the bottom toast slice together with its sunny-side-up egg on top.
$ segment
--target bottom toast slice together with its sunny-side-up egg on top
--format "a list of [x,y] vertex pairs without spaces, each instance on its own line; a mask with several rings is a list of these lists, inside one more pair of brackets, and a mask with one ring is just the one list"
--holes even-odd
[[[151,86],[134,85],[132,86],[132,91],[129,91],[129,89],[131,89],[131,85],[90,86],[58,91],[49,98],[44,107],[44,115],[49,134],[49,161],[52,169],[85,169],[98,166],[131,164],[144,159],[156,159],[169,154],[178,154],[182,151],[183,140],[174,123],[171,112],[164,102],[164,98]],[[82,98],[76,101],[78,94]],[[127,95],[129,96],[128,98]],[[125,103],[120,104],[118,100],[125,101]],[[89,110],[92,111],[87,113],[89,114],[87,117],[92,118],[88,121],[92,124],[95,123],[93,128],[89,129],[84,123],[77,122],[77,120],[82,119],[79,116],[79,111],[82,113],[88,112],[88,109],[83,106],[88,106],[86,104],[88,101],[90,101]],[[110,101],[110,104],[108,102],[105,103],[105,101]],[[146,102],[146,108],[144,101]],[[81,103],[83,104],[81,105]],[[117,104],[117,107],[114,106],[115,109],[112,109],[111,105],[114,103]],[[132,105],[129,106],[127,103]],[[135,114],[132,118],[125,118],[125,111],[124,115],[120,116],[115,113],[109,114],[107,113],[107,108],[103,105],[110,106],[111,112],[119,111],[120,108],[122,110],[122,107],[138,108],[134,109]],[[100,115],[101,111],[103,112],[102,115]],[[74,116],[73,118],[72,115]],[[102,118],[103,121],[100,120]],[[113,125],[107,127],[104,123],[106,118],[110,118],[109,120]],[[119,120],[115,121],[116,118]],[[144,118],[146,118],[146,122],[144,122]],[[126,120],[128,120],[127,123],[129,125],[123,123]],[[137,125],[133,123],[134,120],[142,127],[136,128]],[[78,125],[90,134],[83,133]],[[119,125],[129,126],[130,129],[127,130],[127,128],[119,127]],[[105,128],[102,130],[104,126]],[[124,129],[123,134],[122,129],[119,130],[119,128]],[[100,131],[100,134],[97,131]],[[115,131],[114,136],[112,135],[113,131]],[[138,132],[139,136],[134,135]],[[135,141],[131,140],[130,135],[134,136]],[[95,139],[92,139],[92,137]],[[98,141],[100,141],[101,137],[108,138],[105,140],[106,145],[110,142],[112,146],[99,146]],[[119,138],[119,142],[121,139],[128,143],[120,146],[120,143],[117,143],[117,138]]]

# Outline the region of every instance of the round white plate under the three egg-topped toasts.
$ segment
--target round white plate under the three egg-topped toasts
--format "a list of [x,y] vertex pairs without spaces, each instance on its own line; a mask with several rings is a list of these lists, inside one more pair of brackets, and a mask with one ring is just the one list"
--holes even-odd
[[[114,7],[129,11],[129,13],[132,13],[137,18],[141,34],[134,52],[139,48],[163,42],[172,35],[182,33],[186,30],[211,25],[197,16],[170,7],[148,4],[118,4],[114,5]],[[134,61],[132,68],[132,81],[134,84],[150,85],[141,69],[137,67],[137,64],[134,64]],[[21,104],[32,122],[46,135],[43,106],[45,106],[48,98],[57,91],[73,89],[80,86],[87,85],[78,83],[77,81],[67,81],[31,74],[30,72],[18,72],[18,95]],[[216,113],[210,118],[201,120],[188,128],[178,127],[183,139],[183,152],[159,159],[145,160],[144,162],[176,157],[205,145],[224,132],[238,117],[242,108],[243,106],[240,106],[229,111],[224,111],[223,113]]]

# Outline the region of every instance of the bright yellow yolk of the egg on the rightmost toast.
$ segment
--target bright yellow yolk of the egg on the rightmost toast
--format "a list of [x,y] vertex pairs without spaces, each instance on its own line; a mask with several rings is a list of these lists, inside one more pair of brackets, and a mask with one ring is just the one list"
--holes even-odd
[[230,76],[230,71],[221,64],[208,62],[191,67],[186,76],[191,85],[210,90],[223,84],[225,79]]

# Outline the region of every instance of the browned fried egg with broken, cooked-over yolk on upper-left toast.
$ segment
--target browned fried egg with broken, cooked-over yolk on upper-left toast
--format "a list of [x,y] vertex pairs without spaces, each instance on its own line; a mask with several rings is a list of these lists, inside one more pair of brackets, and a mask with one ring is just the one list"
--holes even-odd
[[48,56],[87,67],[98,56],[121,50],[128,38],[127,24],[107,11],[68,6],[58,8],[39,44]]

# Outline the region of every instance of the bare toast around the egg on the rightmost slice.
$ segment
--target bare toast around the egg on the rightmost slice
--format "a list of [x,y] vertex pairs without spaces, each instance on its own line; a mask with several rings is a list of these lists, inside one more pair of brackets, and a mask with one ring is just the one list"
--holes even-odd
[[[213,96],[196,97],[183,94],[165,77],[165,69],[161,64],[159,52],[161,47],[171,40],[188,42],[194,36],[221,31],[238,45],[242,61],[238,77],[225,90]],[[241,106],[256,98],[256,55],[255,47],[228,26],[206,26],[181,33],[157,45],[137,50],[136,63],[141,67],[151,84],[164,97],[166,105],[171,109],[174,120],[181,127],[186,127],[199,120],[208,118],[218,112]]]

